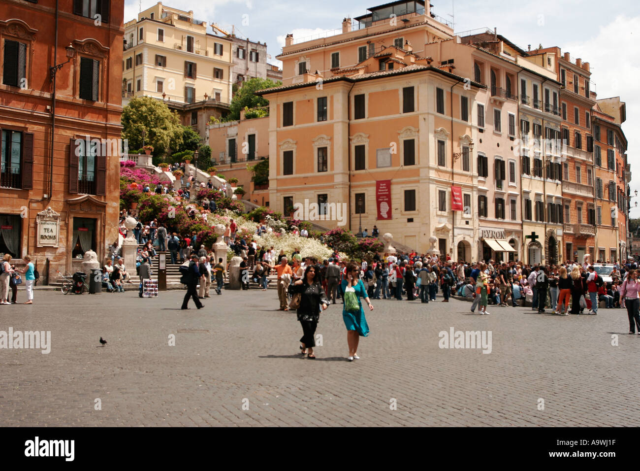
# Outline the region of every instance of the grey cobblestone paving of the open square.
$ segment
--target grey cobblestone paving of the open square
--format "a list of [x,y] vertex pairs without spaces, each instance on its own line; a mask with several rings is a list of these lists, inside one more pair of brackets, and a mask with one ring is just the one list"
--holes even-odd
[[[625,310],[374,301],[349,363],[340,304],[321,315],[312,360],[275,291],[224,292],[199,311],[179,310],[182,295],[38,292],[33,306],[0,306],[0,330],[51,331],[52,343],[0,349],[0,426],[640,425],[640,336]],[[440,349],[451,327],[491,331],[492,352]]]

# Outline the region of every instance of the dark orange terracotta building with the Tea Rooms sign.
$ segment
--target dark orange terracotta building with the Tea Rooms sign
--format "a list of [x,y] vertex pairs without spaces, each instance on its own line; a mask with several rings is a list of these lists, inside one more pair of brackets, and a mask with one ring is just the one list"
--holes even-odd
[[124,4],[57,4],[0,1],[0,252],[44,282],[118,239]]

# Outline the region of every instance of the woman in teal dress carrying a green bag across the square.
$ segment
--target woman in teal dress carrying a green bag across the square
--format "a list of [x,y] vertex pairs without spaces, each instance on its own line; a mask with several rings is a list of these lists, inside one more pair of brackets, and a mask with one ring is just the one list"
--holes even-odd
[[[367,295],[367,288],[360,279],[360,267],[356,263],[350,262],[347,265],[347,279],[342,280],[342,292],[344,293],[344,303],[342,304],[342,320],[347,327],[347,342],[349,343],[348,360],[360,359],[358,356],[358,342],[360,336],[369,335],[367,318],[362,309],[360,298],[373,310],[373,306]],[[353,299],[355,297],[355,299]],[[356,304],[357,302],[357,304]]]

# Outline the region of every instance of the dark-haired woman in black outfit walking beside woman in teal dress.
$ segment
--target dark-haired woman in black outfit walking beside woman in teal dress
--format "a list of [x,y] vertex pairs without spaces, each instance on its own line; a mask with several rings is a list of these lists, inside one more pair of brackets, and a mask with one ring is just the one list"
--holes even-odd
[[327,308],[329,300],[324,293],[321,283],[318,281],[318,272],[314,265],[308,265],[302,279],[296,281],[292,293],[301,293],[300,307],[298,308],[298,320],[302,325],[303,336],[300,339],[300,352],[307,354],[308,358],[316,358],[314,347],[318,320],[320,318],[320,305],[323,311]]

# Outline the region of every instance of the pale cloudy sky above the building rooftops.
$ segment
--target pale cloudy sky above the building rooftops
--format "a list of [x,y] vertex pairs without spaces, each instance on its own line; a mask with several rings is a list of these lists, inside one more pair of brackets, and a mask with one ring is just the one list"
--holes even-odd
[[[284,37],[294,39],[342,27],[344,17],[356,17],[367,8],[389,0],[191,0],[189,6],[164,0],[166,6],[193,9],[196,19],[224,27],[234,24],[236,33],[266,42],[268,62],[280,64]],[[154,5],[149,0],[125,0],[125,22],[140,10]],[[572,58],[591,66],[591,81],[598,98],[620,96],[627,103],[627,121],[622,125],[628,140],[631,164],[631,194],[640,191],[640,2],[635,0],[431,0],[431,11],[454,22],[454,31],[497,28],[500,35],[527,49],[559,46]],[[140,8],[141,6],[141,8]],[[453,17],[451,16],[453,15]],[[633,36],[636,31],[636,37]],[[592,88],[593,90],[593,88]],[[635,202],[639,201],[639,207]],[[631,200],[631,217],[640,217],[640,196]]]

